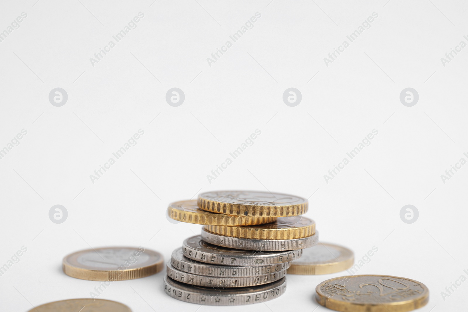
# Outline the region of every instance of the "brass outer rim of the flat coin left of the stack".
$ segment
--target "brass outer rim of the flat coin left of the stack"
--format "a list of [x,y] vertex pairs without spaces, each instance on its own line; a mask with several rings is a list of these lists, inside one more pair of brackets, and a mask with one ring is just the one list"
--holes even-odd
[[124,269],[124,270],[118,270],[118,269],[99,270],[99,269],[82,268],[82,267],[79,267],[78,264],[73,264],[68,261],[70,257],[75,256],[76,254],[85,253],[85,252],[95,252],[96,250],[103,250],[103,249],[119,249],[119,248],[139,250],[138,247],[117,246],[117,247],[99,247],[99,248],[83,249],[83,250],[75,251],[74,253],[67,254],[63,258],[62,270],[66,275],[74,277],[74,278],[79,278],[82,280],[104,281],[104,282],[111,281],[112,282],[112,281],[125,281],[125,280],[151,276],[151,275],[161,272],[162,269],[164,268],[163,255],[157,251],[146,249],[146,248],[143,252],[147,252],[150,255],[159,255],[159,257],[161,258],[160,261],[146,265],[144,267],[129,268],[129,269]]

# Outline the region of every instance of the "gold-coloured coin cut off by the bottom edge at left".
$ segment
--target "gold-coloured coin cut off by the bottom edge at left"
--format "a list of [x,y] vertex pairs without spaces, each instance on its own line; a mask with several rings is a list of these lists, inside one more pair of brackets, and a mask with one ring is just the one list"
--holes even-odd
[[28,312],[132,312],[130,308],[117,301],[104,299],[68,299],[49,302],[32,308]]

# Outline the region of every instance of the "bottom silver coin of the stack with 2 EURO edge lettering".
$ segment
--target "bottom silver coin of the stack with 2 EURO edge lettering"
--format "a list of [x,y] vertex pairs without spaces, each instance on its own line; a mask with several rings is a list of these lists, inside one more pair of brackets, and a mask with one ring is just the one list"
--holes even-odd
[[177,300],[197,305],[248,305],[277,298],[286,290],[286,278],[265,285],[242,288],[200,287],[164,277],[164,291]]

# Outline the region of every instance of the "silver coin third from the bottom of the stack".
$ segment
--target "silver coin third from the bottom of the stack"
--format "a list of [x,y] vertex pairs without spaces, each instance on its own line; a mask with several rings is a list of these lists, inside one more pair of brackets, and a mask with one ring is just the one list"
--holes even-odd
[[208,264],[198,262],[187,258],[183,255],[182,247],[172,252],[171,265],[172,267],[183,272],[196,275],[213,276],[213,277],[243,277],[243,276],[262,276],[266,274],[283,271],[291,265],[291,262],[279,264],[271,264],[267,266],[254,267],[243,266],[233,267],[226,265]]

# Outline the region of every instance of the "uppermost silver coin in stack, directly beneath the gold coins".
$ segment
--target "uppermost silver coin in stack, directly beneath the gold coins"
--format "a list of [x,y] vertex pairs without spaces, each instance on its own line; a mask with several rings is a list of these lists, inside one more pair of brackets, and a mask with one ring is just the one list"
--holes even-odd
[[299,239],[240,239],[236,237],[214,234],[202,228],[202,239],[205,242],[217,246],[243,250],[297,250],[315,246],[318,242],[318,238],[318,232],[315,232],[314,235]]

